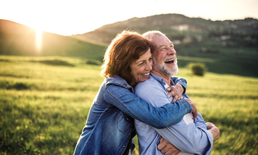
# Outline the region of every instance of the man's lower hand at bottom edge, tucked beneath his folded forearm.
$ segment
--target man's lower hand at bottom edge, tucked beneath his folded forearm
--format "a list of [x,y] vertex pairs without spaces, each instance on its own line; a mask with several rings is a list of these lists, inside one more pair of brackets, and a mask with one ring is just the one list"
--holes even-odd
[[157,148],[165,155],[177,155],[180,152],[178,148],[169,143],[163,137],[160,138],[160,143]]

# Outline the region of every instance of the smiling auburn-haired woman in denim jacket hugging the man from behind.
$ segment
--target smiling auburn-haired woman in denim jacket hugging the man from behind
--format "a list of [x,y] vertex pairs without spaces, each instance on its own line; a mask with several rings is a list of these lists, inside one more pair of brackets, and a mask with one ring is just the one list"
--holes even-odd
[[[160,129],[178,123],[192,111],[185,100],[156,108],[135,96],[136,84],[149,78],[153,50],[152,43],[136,32],[123,31],[112,40],[101,67],[105,79],[74,154],[128,154],[136,135],[133,119]],[[186,87],[184,79],[172,80]]]

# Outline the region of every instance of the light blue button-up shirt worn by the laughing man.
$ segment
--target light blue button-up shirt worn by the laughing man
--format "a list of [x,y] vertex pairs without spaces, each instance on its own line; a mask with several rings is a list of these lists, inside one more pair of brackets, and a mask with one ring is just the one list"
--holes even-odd
[[[170,84],[174,85],[172,80]],[[168,98],[165,88],[165,80],[150,73],[148,80],[137,84],[135,94],[155,107],[162,107],[171,104],[173,100],[173,97]],[[187,94],[183,94],[182,97],[189,98]],[[213,136],[207,130],[202,116],[198,113],[198,117],[193,121],[187,115],[179,123],[164,129],[156,129],[134,120],[140,154],[161,155],[162,153],[157,149],[161,137],[181,150],[179,154],[210,154]]]

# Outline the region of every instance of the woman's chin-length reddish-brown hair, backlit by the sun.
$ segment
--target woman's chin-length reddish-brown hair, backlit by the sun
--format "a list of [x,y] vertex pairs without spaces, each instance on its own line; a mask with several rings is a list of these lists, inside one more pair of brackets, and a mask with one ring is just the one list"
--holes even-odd
[[123,31],[117,34],[106,50],[103,65],[101,66],[101,76],[112,77],[119,75],[130,83],[130,64],[146,53],[149,48],[153,53],[152,42],[137,32]]

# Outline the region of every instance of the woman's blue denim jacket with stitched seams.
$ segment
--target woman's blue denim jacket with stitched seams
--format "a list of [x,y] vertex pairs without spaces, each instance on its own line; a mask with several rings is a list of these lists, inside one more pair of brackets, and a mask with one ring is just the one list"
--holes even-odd
[[[173,77],[186,88],[186,80]],[[105,78],[96,94],[74,154],[117,154],[125,152],[135,135],[134,119],[161,129],[181,121],[192,111],[186,100],[157,108],[136,97],[120,76]]]

